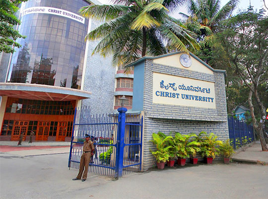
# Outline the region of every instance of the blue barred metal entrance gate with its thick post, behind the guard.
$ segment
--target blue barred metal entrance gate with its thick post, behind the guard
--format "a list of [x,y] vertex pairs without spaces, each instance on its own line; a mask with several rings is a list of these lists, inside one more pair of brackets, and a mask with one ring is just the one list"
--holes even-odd
[[119,113],[91,115],[89,108],[76,109],[69,153],[68,167],[79,169],[84,135],[94,142],[95,154],[88,171],[121,177],[141,170],[142,120],[139,115],[126,115],[126,108]]

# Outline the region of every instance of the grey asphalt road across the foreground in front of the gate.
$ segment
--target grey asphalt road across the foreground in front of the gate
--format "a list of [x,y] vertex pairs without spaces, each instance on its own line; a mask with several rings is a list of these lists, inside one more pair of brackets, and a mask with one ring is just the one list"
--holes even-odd
[[268,166],[213,164],[72,181],[68,154],[0,153],[0,199],[268,199]]

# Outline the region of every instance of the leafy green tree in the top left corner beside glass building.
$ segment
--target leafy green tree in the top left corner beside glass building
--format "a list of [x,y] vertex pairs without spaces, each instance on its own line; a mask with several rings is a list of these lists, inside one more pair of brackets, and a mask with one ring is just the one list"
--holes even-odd
[[20,24],[20,20],[15,16],[18,10],[17,4],[27,0],[0,0],[0,52],[13,53],[14,47],[20,47],[15,42],[17,38],[25,38],[14,27]]

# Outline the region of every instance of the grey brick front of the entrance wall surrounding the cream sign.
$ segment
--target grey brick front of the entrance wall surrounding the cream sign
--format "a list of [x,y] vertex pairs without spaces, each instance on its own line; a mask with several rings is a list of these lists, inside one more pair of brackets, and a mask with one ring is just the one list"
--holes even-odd
[[[145,61],[144,71],[144,171],[155,165],[155,158],[150,152],[150,149],[155,149],[150,142],[152,133],[161,131],[169,135],[171,131],[176,131],[184,134],[198,134],[201,131],[205,131],[216,134],[220,140],[228,139],[229,133],[223,73],[214,72],[213,75],[198,73],[155,64],[152,60]],[[153,72],[214,82],[216,109],[152,103]]]

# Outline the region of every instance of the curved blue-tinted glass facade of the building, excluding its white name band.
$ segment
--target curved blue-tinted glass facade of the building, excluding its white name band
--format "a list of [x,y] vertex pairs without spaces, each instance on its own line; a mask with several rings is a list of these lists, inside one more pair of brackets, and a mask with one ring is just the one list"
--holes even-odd
[[[29,0],[21,12],[30,7],[46,6],[78,13],[85,0]],[[65,16],[31,13],[21,17],[19,39],[9,70],[9,82],[44,84],[80,89],[85,54],[88,19],[81,23]]]

